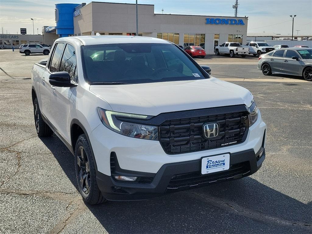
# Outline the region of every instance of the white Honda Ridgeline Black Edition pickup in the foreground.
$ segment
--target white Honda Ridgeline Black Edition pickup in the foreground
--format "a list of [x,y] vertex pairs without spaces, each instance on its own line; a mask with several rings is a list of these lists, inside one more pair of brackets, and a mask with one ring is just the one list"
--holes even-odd
[[86,202],[148,199],[261,167],[266,124],[251,93],[208,75],[177,45],[82,36],[51,51],[32,68],[35,126],[75,155]]

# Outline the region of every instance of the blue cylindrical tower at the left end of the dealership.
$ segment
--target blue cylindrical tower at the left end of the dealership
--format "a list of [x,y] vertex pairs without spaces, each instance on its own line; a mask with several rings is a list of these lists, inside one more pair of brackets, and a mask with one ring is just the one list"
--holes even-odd
[[60,37],[68,37],[74,34],[74,16],[75,7],[80,4],[59,3],[55,4],[56,34]]

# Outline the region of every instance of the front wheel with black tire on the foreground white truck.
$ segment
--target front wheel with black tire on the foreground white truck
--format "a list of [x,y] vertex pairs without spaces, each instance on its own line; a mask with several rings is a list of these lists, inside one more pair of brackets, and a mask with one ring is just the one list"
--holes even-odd
[[79,192],[83,200],[91,205],[106,202],[96,182],[95,166],[85,134],[81,134],[76,142],[75,161]]

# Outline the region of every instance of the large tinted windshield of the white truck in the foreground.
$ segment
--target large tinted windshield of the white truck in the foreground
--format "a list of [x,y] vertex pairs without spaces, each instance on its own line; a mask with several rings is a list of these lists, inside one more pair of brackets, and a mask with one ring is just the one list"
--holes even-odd
[[124,43],[82,46],[88,83],[140,84],[209,78],[173,44]]

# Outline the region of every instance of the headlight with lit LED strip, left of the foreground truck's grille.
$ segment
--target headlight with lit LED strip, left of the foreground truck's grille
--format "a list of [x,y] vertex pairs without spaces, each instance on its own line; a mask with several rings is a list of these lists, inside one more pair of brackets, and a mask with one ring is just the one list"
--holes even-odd
[[[110,130],[128,137],[141,138],[147,140],[158,140],[158,127],[145,124],[135,124],[119,120],[118,117],[134,119],[147,119],[147,115],[135,115],[115,112],[97,108],[100,120]],[[130,120],[130,119],[129,119]]]

